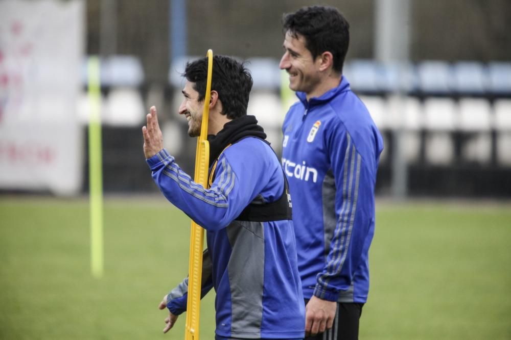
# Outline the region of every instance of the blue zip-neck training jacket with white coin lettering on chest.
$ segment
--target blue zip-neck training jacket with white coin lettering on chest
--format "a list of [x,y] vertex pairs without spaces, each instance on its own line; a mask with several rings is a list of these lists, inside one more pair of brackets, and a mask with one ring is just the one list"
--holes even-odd
[[283,124],[282,166],[304,296],[366,302],[382,137],[345,77],[320,97],[296,95]]

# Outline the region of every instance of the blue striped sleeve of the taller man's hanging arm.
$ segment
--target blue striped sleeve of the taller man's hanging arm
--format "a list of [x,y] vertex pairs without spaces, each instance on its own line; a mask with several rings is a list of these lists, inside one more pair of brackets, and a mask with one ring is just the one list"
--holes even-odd
[[337,301],[340,291],[350,289],[362,258],[373,218],[375,174],[342,123],[332,126],[327,144],[336,186],[337,223],[314,296]]

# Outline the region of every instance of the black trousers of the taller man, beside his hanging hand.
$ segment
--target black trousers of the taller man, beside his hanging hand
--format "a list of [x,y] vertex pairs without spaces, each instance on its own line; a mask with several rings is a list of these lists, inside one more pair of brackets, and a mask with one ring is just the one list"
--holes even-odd
[[[309,300],[305,300],[307,304]],[[331,329],[305,340],[358,340],[358,326],[363,303],[337,302],[335,320]]]

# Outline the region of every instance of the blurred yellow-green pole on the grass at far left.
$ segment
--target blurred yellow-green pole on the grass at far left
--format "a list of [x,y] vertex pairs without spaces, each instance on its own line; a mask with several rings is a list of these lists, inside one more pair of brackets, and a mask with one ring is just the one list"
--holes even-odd
[[103,276],[103,172],[101,144],[100,61],[89,57],[89,198],[90,269],[92,276]]

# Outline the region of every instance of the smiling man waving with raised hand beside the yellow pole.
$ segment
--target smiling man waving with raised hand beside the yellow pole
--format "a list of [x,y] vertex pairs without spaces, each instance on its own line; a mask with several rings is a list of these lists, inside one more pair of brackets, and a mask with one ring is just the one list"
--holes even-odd
[[[207,58],[188,63],[179,114],[199,136]],[[305,308],[287,181],[254,116],[247,116],[252,77],[230,57],[213,58],[208,141],[210,185],[196,184],[163,148],[156,109],[142,128],[144,154],[165,197],[206,229],[202,296],[215,287],[216,339],[297,339]],[[161,301],[164,332],[187,307],[188,278]]]

